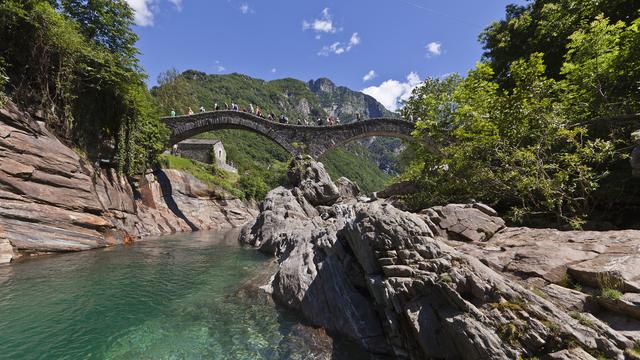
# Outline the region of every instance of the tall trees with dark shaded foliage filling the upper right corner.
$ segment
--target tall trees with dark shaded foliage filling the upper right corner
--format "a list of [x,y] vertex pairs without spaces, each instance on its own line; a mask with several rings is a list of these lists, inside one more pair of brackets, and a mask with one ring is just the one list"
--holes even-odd
[[[629,134],[640,126],[640,15],[634,0],[535,0],[507,7],[506,19],[480,39],[495,82],[511,89],[511,65],[542,53],[546,75],[556,81],[567,122],[582,124],[589,139],[616,146],[618,155],[599,170],[590,218],[635,225],[638,180],[629,176]],[[595,140],[594,140],[595,141]]]

